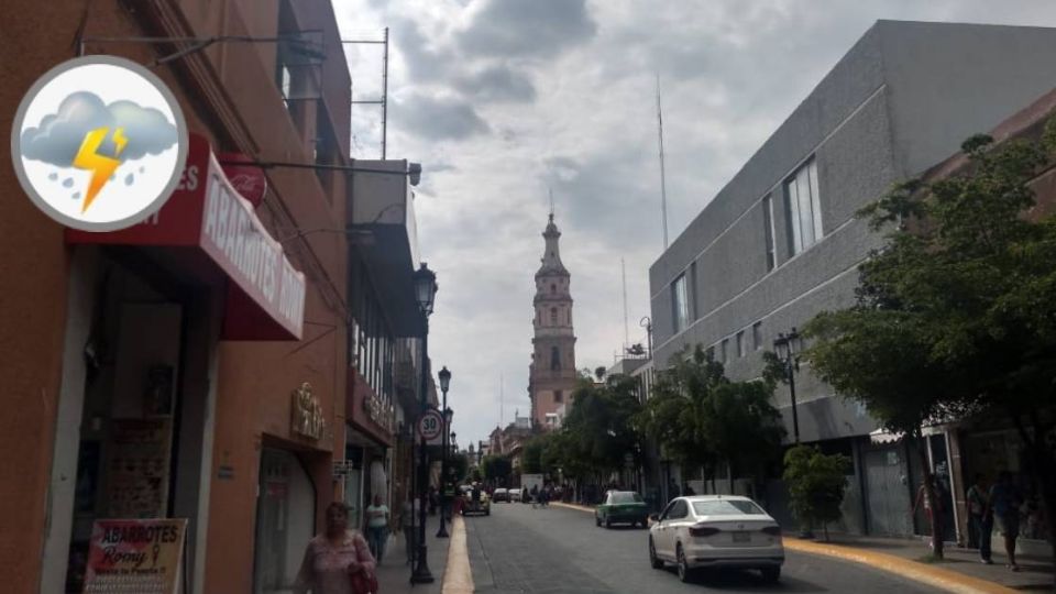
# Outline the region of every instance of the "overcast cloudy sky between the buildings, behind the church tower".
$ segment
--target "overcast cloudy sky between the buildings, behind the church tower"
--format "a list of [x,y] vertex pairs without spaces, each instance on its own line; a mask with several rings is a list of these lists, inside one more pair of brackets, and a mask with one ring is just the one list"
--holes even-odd
[[[674,238],[878,19],[1056,26],[1049,0],[333,0],[345,38],[389,28],[388,157],[420,162],[422,258],[440,293],[435,369],[459,442],[528,410],[532,275],[552,189],[572,273],[576,365],[645,342],[662,251],[656,85]],[[353,98],[378,46],[350,45]],[[353,112],[377,158],[380,110]]]

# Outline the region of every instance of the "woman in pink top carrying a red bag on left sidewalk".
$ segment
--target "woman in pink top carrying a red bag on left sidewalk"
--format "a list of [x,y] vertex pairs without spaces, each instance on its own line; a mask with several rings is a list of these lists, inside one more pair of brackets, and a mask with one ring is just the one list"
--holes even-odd
[[294,592],[360,594],[352,588],[352,576],[374,573],[374,565],[363,535],[349,530],[349,508],[333,502],[327,507],[327,531],[308,541]]

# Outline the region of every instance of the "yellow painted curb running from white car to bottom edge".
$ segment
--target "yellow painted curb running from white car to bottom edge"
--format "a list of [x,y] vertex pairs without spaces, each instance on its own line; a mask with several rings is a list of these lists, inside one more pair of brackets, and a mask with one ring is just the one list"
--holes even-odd
[[926,565],[924,563],[895,557],[893,554],[858,549],[855,547],[842,547],[838,544],[825,544],[822,542],[810,542],[798,539],[784,539],[784,548],[793,551],[811,554],[821,554],[834,557],[844,561],[862,563],[870,568],[899,574],[915,582],[938,587],[946,592],[956,592],[959,594],[985,593],[1015,593],[1018,591],[1005,587],[1001,584],[980,580],[965,575],[956,571]]

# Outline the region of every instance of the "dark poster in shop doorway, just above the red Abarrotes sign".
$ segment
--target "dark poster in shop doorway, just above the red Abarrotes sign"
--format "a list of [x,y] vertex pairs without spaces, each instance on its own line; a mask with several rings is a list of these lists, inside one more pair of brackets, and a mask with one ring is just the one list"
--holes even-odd
[[172,421],[114,419],[108,448],[109,516],[156,518],[168,506]]

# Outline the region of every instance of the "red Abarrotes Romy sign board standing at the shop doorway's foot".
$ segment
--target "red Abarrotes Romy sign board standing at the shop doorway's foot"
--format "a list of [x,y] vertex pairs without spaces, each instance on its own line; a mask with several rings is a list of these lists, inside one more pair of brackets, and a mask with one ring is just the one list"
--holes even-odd
[[186,532],[186,519],[96,520],[84,594],[176,594]]

